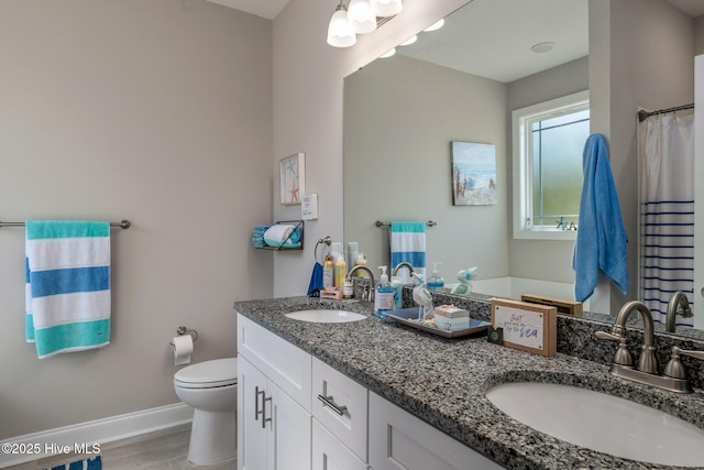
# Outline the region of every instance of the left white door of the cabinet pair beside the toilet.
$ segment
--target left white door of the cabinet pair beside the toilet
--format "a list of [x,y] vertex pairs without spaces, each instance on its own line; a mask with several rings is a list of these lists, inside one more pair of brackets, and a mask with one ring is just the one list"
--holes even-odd
[[[257,393],[258,392],[258,393]],[[238,359],[238,467],[266,469],[266,427],[262,405],[266,378],[242,356]]]

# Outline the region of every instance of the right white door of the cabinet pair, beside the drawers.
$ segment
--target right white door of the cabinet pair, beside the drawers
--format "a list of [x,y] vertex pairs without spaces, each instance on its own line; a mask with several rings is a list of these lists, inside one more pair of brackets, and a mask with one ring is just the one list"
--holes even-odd
[[[266,417],[271,429],[268,447],[272,470],[310,470],[310,414],[272,381],[267,394]],[[264,467],[261,467],[262,469]]]

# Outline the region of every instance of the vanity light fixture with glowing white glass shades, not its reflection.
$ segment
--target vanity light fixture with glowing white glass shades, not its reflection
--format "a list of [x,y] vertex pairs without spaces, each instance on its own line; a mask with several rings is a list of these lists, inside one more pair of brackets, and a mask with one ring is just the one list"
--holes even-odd
[[333,47],[353,46],[358,34],[373,32],[403,9],[402,0],[350,0],[349,9],[339,1],[328,24],[328,44]]

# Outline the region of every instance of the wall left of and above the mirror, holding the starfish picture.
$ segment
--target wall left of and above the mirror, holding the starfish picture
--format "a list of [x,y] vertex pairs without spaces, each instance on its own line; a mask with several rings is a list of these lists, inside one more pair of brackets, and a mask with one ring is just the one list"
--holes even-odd
[[[272,173],[277,174],[279,159],[305,152],[306,190],[320,200],[320,219],[306,223],[305,250],[275,253],[275,296],[305,294],[316,241],[324,236],[342,241],[342,79],[464,3],[406,0],[398,17],[346,50],[326,43],[332,3],[292,0],[274,20]],[[274,217],[300,217],[300,209],[275,203]]]

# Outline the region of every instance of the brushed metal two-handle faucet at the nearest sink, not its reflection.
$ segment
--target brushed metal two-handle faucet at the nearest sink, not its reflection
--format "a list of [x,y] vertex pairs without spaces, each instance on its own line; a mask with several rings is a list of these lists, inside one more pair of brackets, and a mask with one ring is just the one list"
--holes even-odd
[[[634,311],[639,311],[642,317],[642,347],[638,357],[638,367],[634,369],[634,360],[626,345],[626,321]],[[678,393],[691,393],[692,386],[686,378],[684,365],[680,361],[680,354],[691,356],[704,360],[704,351],[686,351],[678,347],[672,348],[672,358],[664,368],[663,374],[658,374],[658,360],[656,359],[654,332],[652,315],[645,304],[631,300],[624,305],[616,317],[612,332],[596,331],[594,334],[600,339],[618,341],[618,349],[612,361],[610,373],[639,382],[646,385],[653,385]]]

